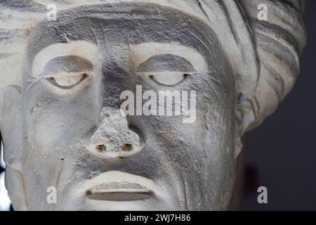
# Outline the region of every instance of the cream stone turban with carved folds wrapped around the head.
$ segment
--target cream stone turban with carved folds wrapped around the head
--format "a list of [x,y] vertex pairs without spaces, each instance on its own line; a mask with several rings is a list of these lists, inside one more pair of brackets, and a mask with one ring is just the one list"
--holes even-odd
[[[147,3],[190,14],[216,33],[235,75],[242,133],[261,124],[289,93],[305,45],[303,0],[3,0],[0,2],[0,87],[22,85],[29,31],[58,11],[92,4]],[[265,4],[268,20],[258,20]]]

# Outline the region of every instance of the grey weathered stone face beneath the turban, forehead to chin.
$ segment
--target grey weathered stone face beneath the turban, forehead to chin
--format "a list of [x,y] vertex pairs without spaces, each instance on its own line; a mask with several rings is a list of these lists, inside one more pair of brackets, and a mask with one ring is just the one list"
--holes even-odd
[[[216,36],[176,10],[118,7],[137,14],[116,18],[112,8],[85,7],[34,29],[22,88],[29,207],[223,209],[230,196],[220,190],[230,193],[234,177],[236,101]],[[157,11],[164,13],[152,16]],[[97,13],[83,17],[87,12]],[[75,40],[60,43],[60,34]],[[167,79],[159,77],[163,72]],[[135,92],[136,85],[157,96],[162,90],[197,91],[195,122],[122,116],[120,94]],[[110,146],[103,136],[116,140]],[[135,149],[124,149],[129,136],[137,136],[131,137]],[[46,203],[49,186],[58,191],[55,205]]]

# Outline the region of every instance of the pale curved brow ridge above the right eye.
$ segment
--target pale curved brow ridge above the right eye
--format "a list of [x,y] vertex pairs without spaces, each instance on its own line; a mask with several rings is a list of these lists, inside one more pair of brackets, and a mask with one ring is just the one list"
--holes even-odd
[[208,72],[206,59],[196,49],[178,42],[145,42],[131,46],[131,63],[138,68],[153,56],[173,55],[187,60],[196,70]]

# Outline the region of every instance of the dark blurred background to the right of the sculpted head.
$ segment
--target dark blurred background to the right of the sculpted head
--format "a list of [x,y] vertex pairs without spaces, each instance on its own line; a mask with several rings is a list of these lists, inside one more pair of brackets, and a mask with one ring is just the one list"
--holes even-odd
[[[316,1],[308,0],[301,75],[277,111],[246,139],[242,210],[316,210]],[[268,188],[258,204],[257,188]]]

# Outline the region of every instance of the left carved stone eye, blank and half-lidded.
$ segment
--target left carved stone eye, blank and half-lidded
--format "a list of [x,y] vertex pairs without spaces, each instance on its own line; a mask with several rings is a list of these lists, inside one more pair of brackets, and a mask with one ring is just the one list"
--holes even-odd
[[46,78],[48,82],[60,89],[72,89],[89,77],[86,72],[50,75]]

